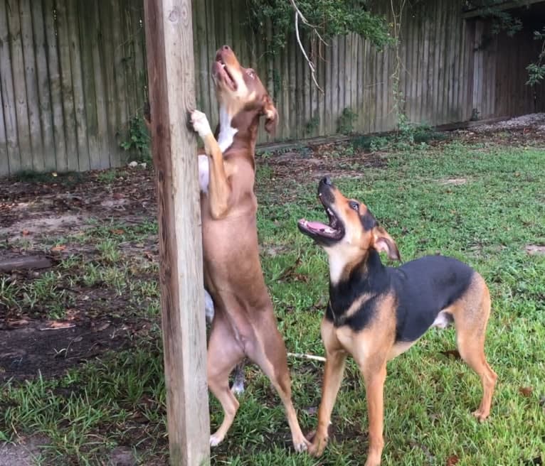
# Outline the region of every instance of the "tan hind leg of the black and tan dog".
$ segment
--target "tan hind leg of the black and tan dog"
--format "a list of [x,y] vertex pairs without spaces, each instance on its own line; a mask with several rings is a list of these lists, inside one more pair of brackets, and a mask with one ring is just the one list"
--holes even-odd
[[490,414],[492,394],[497,374],[490,368],[485,357],[485,332],[490,315],[490,292],[485,281],[475,275],[466,296],[456,303],[454,313],[456,342],[460,357],[467,362],[482,382],[482,400],[473,415],[485,421]]

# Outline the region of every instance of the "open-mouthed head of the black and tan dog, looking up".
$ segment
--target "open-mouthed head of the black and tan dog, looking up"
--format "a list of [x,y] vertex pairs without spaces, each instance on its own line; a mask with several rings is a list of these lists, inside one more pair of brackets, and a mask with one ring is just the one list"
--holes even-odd
[[344,264],[354,264],[365,259],[370,249],[375,249],[386,252],[390,259],[400,260],[396,242],[379,226],[363,202],[344,197],[329,177],[319,182],[318,197],[329,223],[302,219],[297,226],[322,246],[330,258],[335,256]]

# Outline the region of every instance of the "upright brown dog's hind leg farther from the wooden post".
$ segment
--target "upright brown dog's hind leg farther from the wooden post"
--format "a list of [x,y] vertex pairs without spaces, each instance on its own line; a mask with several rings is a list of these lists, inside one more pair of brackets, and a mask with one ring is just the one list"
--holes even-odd
[[258,327],[254,330],[258,335],[255,342],[247,348],[248,357],[265,372],[280,396],[286,411],[287,423],[290,425],[295,451],[305,451],[309,441],[302,433],[292,403],[290,371],[287,369],[286,347],[282,335],[277,330],[276,322],[263,325],[263,331]]

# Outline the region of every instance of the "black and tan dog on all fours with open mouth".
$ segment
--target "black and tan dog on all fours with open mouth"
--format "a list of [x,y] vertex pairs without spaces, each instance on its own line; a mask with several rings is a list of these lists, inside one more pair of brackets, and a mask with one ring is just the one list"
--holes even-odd
[[401,267],[383,266],[379,252],[399,260],[396,243],[367,207],[346,199],[329,178],[319,183],[319,199],[329,224],[300,220],[301,232],[329,256],[329,304],[322,320],[326,350],[318,427],[309,452],[321,455],[327,427],[351,354],[364,376],[369,412],[366,466],[379,465],[384,445],[383,386],[386,362],[408,350],[430,327],[456,329],[458,351],[477,372],[484,394],[473,413],[490,413],[497,375],[485,359],[485,329],[490,293],[482,277],[462,262],[425,256]]

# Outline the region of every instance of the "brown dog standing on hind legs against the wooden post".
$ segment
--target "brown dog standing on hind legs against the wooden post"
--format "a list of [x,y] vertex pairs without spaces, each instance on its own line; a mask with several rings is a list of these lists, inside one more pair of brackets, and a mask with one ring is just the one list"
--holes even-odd
[[210,444],[220,443],[233,423],[238,401],[228,377],[248,357],[275,386],[295,450],[302,451],[308,442],[292,404],[286,349],[259,261],[253,193],[259,120],[265,116],[265,129],[272,131],[277,112],[258,76],[240,66],[227,45],[218,50],[212,72],[220,107],[216,136],[203,113],[191,114],[206,152],[199,156],[204,280],[216,308],[208,340],[208,387],[225,413]]

